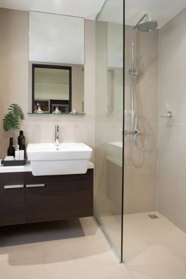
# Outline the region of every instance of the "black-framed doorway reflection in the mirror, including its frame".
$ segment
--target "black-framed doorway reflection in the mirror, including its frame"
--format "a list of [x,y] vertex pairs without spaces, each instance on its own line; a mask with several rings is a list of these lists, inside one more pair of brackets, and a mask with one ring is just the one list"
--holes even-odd
[[32,113],[38,106],[45,113],[53,113],[57,107],[61,113],[71,112],[71,66],[32,64]]

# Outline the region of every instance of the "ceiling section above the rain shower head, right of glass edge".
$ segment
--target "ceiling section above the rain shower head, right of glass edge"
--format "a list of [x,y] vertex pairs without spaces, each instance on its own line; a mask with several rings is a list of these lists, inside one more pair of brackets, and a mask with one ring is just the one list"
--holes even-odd
[[125,24],[135,25],[148,13],[149,18],[157,20],[157,28],[161,28],[184,7],[186,0],[125,0]]

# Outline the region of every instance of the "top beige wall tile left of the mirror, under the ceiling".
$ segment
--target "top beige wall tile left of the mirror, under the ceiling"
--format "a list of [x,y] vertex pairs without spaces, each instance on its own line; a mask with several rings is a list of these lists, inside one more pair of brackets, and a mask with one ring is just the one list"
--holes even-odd
[[0,9],[1,66],[28,67],[29,12]]

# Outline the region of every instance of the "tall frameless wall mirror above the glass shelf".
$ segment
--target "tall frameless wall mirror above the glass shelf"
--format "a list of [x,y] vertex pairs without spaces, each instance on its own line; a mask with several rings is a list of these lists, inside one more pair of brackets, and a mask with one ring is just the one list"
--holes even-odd
[[84,113],[84,19],[29,12],[29,113]]

